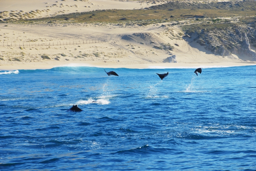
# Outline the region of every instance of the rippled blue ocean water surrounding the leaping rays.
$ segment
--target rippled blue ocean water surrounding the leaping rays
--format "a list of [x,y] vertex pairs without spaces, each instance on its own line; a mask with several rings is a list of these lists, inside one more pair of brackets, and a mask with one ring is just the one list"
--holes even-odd
[[256,66],[105,69],[1,71],[0,170],[256,170]]

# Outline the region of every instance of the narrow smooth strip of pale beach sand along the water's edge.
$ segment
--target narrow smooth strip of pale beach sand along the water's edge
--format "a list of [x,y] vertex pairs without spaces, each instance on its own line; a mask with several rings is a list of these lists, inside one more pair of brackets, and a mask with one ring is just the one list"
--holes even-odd
[[155,64],[131,64],[131,65],[93,65],[81,63],[69,64],[49,64],[40,63],[38,65],[11,65],[0,66],[0,71],[14,71],[14,70],[37,70],[37,69],[51,69],[55,67],[98,67],[98,68],[130,68],[130,69],[165,69],[165,68],[221,68],[221,67],[238,67],[238,66],[251,66],[256,63],[155,63]]

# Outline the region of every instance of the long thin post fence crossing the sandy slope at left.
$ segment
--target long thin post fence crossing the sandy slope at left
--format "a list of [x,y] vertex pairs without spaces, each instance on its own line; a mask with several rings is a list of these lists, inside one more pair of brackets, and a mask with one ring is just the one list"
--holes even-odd
[[[73,43],[72,43],[73,41]],[[3,42],[0,46],[25,46],[25,47],[30,47],[30,46],[64,46],[64,45],[73,45],[73,44],[86,44],[86,43],[102,43],[106,42],[106,40],[102,39],[85,39],[85,40],[69,40],[68,41],[49,41],[49,42],[22,42],[22,43],[17,43],[17,42]]]

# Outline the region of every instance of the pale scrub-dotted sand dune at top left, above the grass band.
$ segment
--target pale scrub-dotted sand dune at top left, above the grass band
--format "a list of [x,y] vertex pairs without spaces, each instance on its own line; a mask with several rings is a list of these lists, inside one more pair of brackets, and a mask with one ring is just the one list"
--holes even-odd
[[165,1],[110,1],[110,0],[0,0],[0,20],[19,20],[51,17],[59,14],[106,9],[144,9]]

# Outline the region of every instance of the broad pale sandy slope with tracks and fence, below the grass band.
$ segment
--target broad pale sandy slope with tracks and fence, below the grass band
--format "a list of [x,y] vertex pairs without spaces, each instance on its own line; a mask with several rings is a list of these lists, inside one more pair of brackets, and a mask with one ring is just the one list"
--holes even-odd
[[69,65],[150,64],[154,66],[159,63],[176,62],[243,62],[235,56],[231,59],[213,55],[197,43],[189,44],[182,39],[183,32],[179,27],[168,26],[169,23],[163,24],[165,25],[72,24],[66,27],[60,25],[5,27],[4,24],[0,24],[0,39],[9,42],[8,46],[6,44],[0,46],[0,69],[51,68]]

